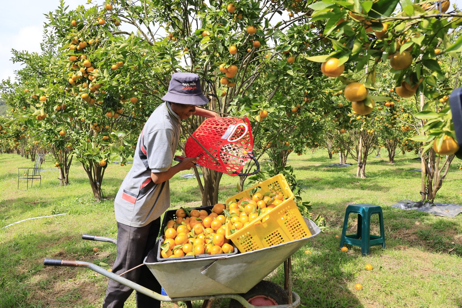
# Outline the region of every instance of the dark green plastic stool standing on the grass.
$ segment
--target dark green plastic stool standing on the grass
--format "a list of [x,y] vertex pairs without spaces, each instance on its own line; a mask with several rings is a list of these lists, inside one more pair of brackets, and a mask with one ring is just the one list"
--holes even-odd
[[[358,230],[356,234],[346,235],[346,225],[350,213],[358,214]],[[378,214],[380,221],[380,236],[371,236],[371,215]],[[379,205],[371,204],[350,204],[346,207],[345,220],[343,222],[340,248],[344,244],[351,244],[361,247],[361,254],[369,254],[369,248],[374,245],[382,245],[385,248],[385,229],[383,228],[383,213]]]

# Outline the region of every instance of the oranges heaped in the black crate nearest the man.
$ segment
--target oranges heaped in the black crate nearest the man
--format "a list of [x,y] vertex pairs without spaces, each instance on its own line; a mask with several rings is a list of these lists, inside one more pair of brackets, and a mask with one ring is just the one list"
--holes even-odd
[[224,210],[221,203],[214,205],[210,214],[206,210],[176,210],[176,219],[166,225],[162,258],[233,253],[234,247],[225,238]]

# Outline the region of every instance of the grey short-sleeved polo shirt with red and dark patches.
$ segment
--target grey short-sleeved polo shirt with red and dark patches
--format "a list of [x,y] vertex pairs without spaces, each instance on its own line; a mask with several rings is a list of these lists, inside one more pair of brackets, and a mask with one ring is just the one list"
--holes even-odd
[[171,110],[170,103],[163,103],[146,121],[138,138],[133,166],[117,192],[114,200],[117,222],[143,227],[169,208],[169,181],[155,184],[151,172],[164,172],[171,167],[179,139],[180,118]]

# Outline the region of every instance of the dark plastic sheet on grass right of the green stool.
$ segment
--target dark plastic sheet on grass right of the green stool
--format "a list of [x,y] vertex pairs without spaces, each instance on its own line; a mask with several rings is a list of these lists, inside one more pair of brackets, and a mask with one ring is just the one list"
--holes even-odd
[[460,204],[401,200],[391,206],[401,210],[422,211],[445,217],[456,217],[458,214],[462,213],[462,205]]

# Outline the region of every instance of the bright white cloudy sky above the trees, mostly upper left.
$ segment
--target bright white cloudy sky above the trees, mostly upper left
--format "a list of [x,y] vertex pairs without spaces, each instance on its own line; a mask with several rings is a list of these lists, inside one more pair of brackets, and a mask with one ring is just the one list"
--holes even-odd
[[[54,11],[59,0],[3,0],[2,18],[0,18],[0,80],[9,76],[14,78],[14,71],[21,66],[11,61],[11,49],[40,52],[43,24],[47,21],[44,13]],[[66,0],[66,5],[74,9],[86,0]],[[102,1],[98,1],[102,2]],[[462,7],[462,0],[451,0]]]

